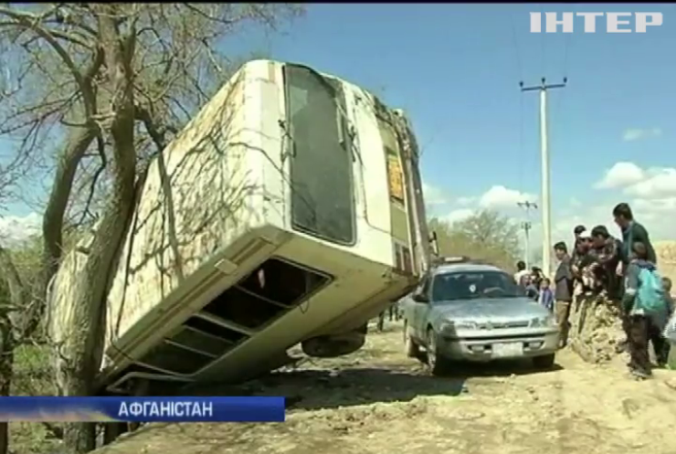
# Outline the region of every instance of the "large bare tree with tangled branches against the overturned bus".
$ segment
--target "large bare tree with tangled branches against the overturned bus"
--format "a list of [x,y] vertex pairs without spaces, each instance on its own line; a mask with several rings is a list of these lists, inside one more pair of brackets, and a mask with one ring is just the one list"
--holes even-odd
[[[248,23],[274,28],[296,5],[40,4],[0,6],[0,43],[16,61],[0,100],[0,133],[17,156],[56,155],[43,221],[37,328],[48,281],[69,234],[96,222],[73,293],[77,330],[62,373],[68,396],[88,396],[101,360],[109,277],[149,158],[162,150],[227,79],[236,62],[217,48]],[[69,424],[70,449],[94,448],[90,424]]]

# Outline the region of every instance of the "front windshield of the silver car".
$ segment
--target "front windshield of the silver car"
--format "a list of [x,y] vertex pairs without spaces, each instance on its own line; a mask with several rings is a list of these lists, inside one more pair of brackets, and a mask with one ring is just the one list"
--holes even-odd
[[438,274],[432,283],[432,301],[519,298],[524,292],[502,271],[467,271]]

